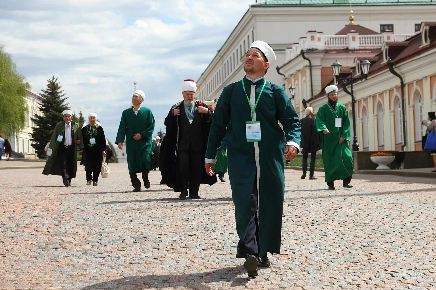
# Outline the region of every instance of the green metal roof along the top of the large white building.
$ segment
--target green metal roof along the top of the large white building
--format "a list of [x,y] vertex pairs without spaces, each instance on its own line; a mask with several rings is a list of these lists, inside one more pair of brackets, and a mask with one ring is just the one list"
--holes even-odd
[[256,0],[254,7],[272,6],[374,6],[374,5],[435,5],[436,0]]

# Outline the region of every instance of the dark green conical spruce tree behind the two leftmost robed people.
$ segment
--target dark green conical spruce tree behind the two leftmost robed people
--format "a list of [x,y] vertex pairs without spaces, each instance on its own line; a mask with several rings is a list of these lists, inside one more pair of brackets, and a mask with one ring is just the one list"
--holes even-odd
[[61,85],[58,78],[54,76],[48,80],[47,88],[41,90],[40,111],[41,115],[35,115],[32,121],[35,123],[35,128],[32,132],[32,147],[39,158],[44,158],[44,147],[50,141],[51,134],[53,133],[56,123],[62,121],[62,111],[68,109],[68,103],[65,103],[67,98],[65,93],[61,90]]

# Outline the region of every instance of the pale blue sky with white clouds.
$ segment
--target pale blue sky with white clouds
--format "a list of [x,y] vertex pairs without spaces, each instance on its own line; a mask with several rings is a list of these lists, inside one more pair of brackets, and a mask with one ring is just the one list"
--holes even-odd
[[75,113],[115,142],[133,81],[157,131],[254,0],[0,0],[0,44],[39,93],[58,77]]

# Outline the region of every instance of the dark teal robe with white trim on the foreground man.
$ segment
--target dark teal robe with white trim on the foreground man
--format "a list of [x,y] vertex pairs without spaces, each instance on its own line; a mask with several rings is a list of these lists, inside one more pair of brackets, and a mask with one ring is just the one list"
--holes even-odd
[[[243,81],[251,98],[252,81],[245,77]],[[255,83],[253,101],[258,100],[263,83],[264,78]],[[266,81],[255,109],[255,119],[260,121],[262,141],[247,142],[245,122],[251,121],[252,116],[242,89],[242,80],[226,86],[215,108],[206,158],[216,159],[221,140],[227,132],[228,173],[235,204],[236,230],[241,241],[248,230],[250,198],[259,170],[257,214],[259,256],[262,257],[267,252],[280,253],[284,200],[283,155],[288,141],[300,144],[300,120],[283,87],[269,81]],[[259,164],[259,168],[256,164]],[[239,249],[236,257],[245,258]]]

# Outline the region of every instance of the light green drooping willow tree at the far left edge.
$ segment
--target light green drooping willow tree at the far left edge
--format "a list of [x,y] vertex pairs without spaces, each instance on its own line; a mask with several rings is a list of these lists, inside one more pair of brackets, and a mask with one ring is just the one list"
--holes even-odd
[[10,55],[0,45],[0,133],[12,138],[26,123],[26,89],[30,85],[17,72]]

